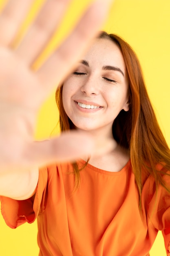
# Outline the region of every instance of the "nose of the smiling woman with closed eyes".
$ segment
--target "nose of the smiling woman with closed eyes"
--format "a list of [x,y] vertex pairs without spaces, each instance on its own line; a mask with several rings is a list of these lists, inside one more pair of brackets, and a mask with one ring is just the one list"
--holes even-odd
[[81,91],[86,95],[98,94],[99,93],[99,81],[95,76],[89,76],[84,81]]

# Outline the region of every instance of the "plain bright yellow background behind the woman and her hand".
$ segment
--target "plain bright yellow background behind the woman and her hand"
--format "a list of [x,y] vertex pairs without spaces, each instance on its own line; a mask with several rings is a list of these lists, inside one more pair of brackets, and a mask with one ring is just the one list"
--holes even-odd
[[[0,0],[0,7],[5,0]],[[33,19],[43,0],[36,0],[24,22],[24,29]],[[74,0],[59,33],[46,49],[48,55],[56,43],[71,29],[75,20],[90,0]],[[135,49],[144,71],[150,99],[155,108],[163,134],[170,145],[170,0],[115,0],[102,29],[122,36]],[[33,47],[33,46],[30,46]],[[40,59],[41,61],[41,59]],[[46,101],[38,117],[35,137],[49,137],[58,121],[54,94]],[[58,132],[58,128],[55,133]],[[36,223],[10,229],[0,216],[0,255],[36,256]],[[122,234],[122,239],[124,234]],[[163,238],[159,233],[150,252],[151,256],[165,256]]]

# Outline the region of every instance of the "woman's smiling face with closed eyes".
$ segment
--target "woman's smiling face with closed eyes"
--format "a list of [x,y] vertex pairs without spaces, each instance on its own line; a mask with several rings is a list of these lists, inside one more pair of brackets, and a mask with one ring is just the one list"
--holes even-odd
[[75,71],[64,81],[62,101],[76,128],[112,133],[119,112],[128,106],[128,79],[119,47],[96,39]]

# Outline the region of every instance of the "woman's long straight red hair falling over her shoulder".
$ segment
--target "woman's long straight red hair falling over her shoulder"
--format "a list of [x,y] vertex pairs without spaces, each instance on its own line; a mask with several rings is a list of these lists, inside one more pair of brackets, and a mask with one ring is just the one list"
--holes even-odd
[[[139,60],[133,49],[115,34],[101,32],[99,38],[112,40],[118,45],[125,61],[129,79],[129,111],[121,110],[113,123],[113,137],[124,148],[130,150],[132,171],[141,198],[142,171],[155,178],[156,189],[161,184],[168,192],[170,188],[163,181],[163,171],[157,170],[163,163],[170,170],[170,149],[159,128],[157,118],[150,103]],[[61,131],[73,129],[62,104],[62,86],[56,91],[56,102],[60,112]],[[165,168],[164,168],[165,169]],[[75,182],[79,183],[79,171],[74,164]]]

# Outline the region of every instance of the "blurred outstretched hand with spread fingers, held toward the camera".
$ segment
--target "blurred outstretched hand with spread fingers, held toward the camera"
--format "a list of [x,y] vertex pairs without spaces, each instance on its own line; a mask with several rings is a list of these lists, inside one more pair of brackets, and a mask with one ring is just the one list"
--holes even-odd
[[33,63],[70,1],[46,0],[22,42],[14,48],[31,2],[9,0],[0,15],[0,169],[73,160],[95,150],[93,138],[85,133],[71,132],[40,142],[34,142],[33,135],[38,110],[96,36],[110,0],[93,2],[71,34],[36,71]]

